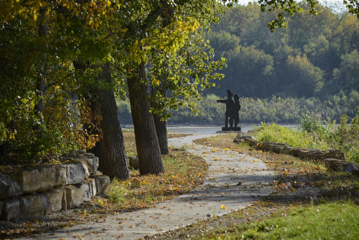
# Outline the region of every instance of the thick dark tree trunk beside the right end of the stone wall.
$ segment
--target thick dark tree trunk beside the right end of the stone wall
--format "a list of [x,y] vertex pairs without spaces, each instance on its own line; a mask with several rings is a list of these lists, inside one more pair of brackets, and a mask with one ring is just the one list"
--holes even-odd
[[[103,72],[99,76],[99,79],[107,83],[112,82],[108,63],[103,66]],[[99,147],[101,151],[99,166],[104,175],[109,176],[110,179],[114,177],[117,179],[129,179],[130,172],[120,120],[117,114],[115,94],[112,89],[99,89],[94,92],[95,97],[97,97],[95,107],[98,108],[102,115],[100,127],[103,134],[99,141],[99,146],[95,146],[93,152],[98,153]]]

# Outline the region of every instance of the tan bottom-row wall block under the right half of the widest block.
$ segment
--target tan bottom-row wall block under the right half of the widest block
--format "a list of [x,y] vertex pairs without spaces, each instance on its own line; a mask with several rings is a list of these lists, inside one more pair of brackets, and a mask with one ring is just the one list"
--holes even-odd
[[66,191],[64,188],[52,188],[42,193],[46,197],[47,206],[44,214],[66,210]]

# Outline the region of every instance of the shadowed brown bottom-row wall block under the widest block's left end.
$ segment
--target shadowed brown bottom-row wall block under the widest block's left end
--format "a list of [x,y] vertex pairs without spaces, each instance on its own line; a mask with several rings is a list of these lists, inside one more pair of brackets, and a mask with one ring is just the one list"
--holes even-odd
[[39,193],[21,196],[19,203],[21,218],[24,220],[42,217],[47,207],[45,195]]

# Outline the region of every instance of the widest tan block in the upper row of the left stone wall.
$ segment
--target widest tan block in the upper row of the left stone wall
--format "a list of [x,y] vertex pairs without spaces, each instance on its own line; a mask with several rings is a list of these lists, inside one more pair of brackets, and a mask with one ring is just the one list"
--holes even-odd
[[27,169],[4,172],[20,185],[23,193],[46,191],[55,185],[55,165],[32,166]]

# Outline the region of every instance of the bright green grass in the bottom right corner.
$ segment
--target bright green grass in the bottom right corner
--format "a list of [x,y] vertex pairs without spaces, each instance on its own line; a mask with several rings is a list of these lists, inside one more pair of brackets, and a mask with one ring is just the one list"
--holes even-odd
[[[233,232],[211,239],[359,239],[359,206],[353,202],[330,202],[278,211],[270,219],[245,223]],[[205,236],[200,239],[208,239]]]

